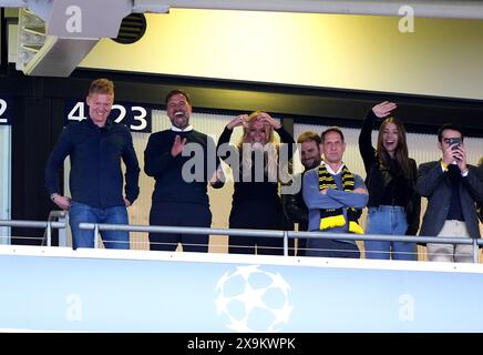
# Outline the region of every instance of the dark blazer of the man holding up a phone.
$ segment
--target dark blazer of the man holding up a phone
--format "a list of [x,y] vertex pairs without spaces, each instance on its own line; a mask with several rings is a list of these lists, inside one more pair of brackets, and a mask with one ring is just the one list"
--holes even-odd
[[[476,166],[467,165],[467,175],[460,180],[461,209],[467,232],[472,237],[480,237],[475,204],[483,201],[483,174]],[[450,179],[440,161],[420,165],[415,190],[428,199],[420,235],[436,236],[443,229],[451,204]]]

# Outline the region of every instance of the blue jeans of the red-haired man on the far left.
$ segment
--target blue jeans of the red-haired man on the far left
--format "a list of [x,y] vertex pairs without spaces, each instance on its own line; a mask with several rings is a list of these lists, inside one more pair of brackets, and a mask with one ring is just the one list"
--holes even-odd
[[[129,224],[125,206],[95,209],[84,203],[72,202],[69,209],[69,224],[72,231],[72,246],[94,247],[94,231],[81,230],[79,223]],[[126,231],[101,231],[106,248],[130,248],[130,233]]]

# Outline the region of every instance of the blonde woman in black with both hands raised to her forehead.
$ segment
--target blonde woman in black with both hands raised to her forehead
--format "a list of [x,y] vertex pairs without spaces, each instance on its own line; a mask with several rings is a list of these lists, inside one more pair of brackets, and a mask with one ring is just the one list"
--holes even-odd
[[[233,130],[243,128],[243,136],[233,154],[222,145],[228,144]],[[278,195],[280,142],[288,146],[287,161],[291,159],[294,138],[267,112],[256,111],[233,119],[218,141],[220,158],[232,165],[235,191],[233,194],[230,229],[282,230],[284,212]],[[222,148],[222,149],[220,149]],[[281,255],[282,241],[274,237],[230,236],[228,252],[233,254]]]

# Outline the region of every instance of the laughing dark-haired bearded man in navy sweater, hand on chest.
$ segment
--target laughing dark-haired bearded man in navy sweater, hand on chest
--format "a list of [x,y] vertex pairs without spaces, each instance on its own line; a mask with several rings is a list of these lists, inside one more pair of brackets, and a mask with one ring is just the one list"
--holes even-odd
[[[189,124],[193,109],[187,92],[172,90],[165,102],[172,128],[151,134],[144,151],[144,172],[156,181],[150,224],[210,227],[207,183],[223,186],[215,142]],[[206,253],[208,242],[206,234],[150,233],[152,251],[172,252],[181,243],[184,252]]]

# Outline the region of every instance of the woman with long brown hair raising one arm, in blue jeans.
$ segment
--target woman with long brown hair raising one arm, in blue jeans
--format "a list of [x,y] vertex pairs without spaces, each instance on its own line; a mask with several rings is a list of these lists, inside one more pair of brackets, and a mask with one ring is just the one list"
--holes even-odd
[[[404,125],[389,116],[397,104],[384,101],[367,114],[359,135],[359,151],[366,168],[369,191],[367,234],[415,235],[421,197],[415,193],[418,168],[409,158]],[[387,118],[379,128],[374,150],[371,132],[374,121]],[[366,258],[417,260],[412,242],[366,241]]]

